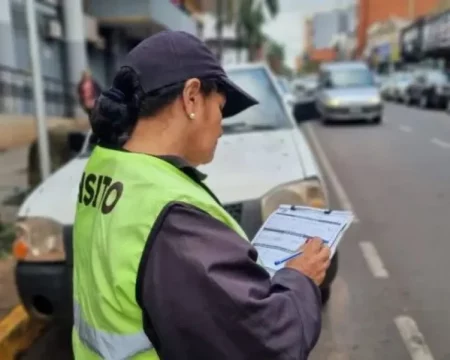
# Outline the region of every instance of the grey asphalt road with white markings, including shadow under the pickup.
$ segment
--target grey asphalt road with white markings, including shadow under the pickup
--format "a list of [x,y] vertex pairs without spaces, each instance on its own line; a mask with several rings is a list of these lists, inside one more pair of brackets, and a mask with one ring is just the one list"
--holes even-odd
[[[450,116],[391,104],[385,114],[380,126],[305,126],[333,207],[359,219],[312,360],[450,359]],[[52,329],[24,359],[70,359],[68,349],[68,332]]]

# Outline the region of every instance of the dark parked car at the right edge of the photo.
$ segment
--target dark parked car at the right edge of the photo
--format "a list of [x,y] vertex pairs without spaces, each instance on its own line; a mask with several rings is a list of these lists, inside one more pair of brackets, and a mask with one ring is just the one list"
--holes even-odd
[[405,103],[421,108],[445,108],[450,99],[450,82],[446,72],[422,70],[407,87]]

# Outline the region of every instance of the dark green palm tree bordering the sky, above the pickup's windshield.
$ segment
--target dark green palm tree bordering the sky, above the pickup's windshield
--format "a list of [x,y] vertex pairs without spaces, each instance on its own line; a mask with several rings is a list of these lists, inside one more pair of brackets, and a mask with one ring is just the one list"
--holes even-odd
[[248,60],[254,61],[258,49],[266,40],[262,27],[266,22],[264,12],[275,17],[279,11],[278,0],[241,0],[236,16],[236,35],[239,44],[248,50]]

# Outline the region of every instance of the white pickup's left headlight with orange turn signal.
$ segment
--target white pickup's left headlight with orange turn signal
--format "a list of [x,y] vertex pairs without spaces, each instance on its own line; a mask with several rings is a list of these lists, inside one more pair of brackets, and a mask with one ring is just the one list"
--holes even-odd
[[63,261],[63,226],[51,219],[30,217],[16,223],[13,255],[22,261]]

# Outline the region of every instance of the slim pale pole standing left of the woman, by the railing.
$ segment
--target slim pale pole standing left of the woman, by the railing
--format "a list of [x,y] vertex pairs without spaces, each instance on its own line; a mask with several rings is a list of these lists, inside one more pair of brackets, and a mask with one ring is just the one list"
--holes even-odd
[[50,148],[48,144],[47,124],[45,118],[44,88],[42,85],[41,59],[39,53],[38,27],[34,0],[26,0],[28,42],[30,44],[31,68],[33,73],[33,95],[38,134],[41,178],[50,175]]

